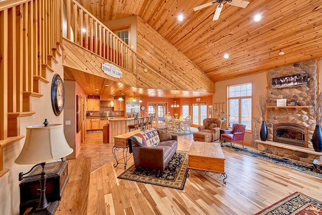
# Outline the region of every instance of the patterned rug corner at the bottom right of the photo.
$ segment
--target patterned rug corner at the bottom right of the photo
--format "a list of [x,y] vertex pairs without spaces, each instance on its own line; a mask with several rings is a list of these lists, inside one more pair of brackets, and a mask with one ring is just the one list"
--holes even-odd
[[300,192],[295,192],[286,198],[272,204],[261,210],[255,215],[266,214],[288,214],[288,215],[306,215],[306,214],[322,214],[322,202],[313,199]]

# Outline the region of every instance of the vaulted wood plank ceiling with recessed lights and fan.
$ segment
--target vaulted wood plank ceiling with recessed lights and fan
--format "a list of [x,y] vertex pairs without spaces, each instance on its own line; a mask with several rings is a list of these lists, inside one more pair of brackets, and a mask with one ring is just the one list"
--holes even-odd
[[[320,0],[247,0],[246,8],[224,3],[216,21],[212,18],[218,3],[193,10],[209,0],[77,1],[102,22],[138,15],[214,82],[322,56]],[[177,19],[180,14],[184,17],[181,22]],[[256,14],[263,16],[261,21],[254,21]],[[230,57],[225,59],[224,54]],[[122,89],[127,91],[118,86],[114,92]],[[132,92],[127,93],[132,96]],[[136,95],[173,98],[178,93],[141,89]]]

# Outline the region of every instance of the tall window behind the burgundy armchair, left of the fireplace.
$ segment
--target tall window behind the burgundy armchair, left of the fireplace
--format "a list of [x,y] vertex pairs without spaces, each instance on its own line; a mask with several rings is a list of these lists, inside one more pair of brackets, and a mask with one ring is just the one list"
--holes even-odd
[[253,84],[228,86],[228,126],[234,123],[246,125],[252,130]]

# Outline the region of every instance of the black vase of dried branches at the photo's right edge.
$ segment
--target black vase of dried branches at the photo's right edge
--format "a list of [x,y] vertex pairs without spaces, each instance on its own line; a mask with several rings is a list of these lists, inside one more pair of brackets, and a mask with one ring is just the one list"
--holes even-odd
[[312,102],[314,117],[315,117],[315,129],[312,136],[312,145],[315,152],[322,152],[322,130],[321,130],[321,121],[322,121],[322,92],[313,99]]

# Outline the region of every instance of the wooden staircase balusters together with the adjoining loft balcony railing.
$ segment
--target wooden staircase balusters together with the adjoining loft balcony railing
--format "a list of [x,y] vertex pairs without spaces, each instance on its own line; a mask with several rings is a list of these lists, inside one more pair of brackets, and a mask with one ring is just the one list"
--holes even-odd
[[[136,74],[135,51],[76,1],[0,1],[0,177],[9,171],[3,167],[3,149],[24,137],[20,118],[35,114],[32,98],[43,96],[41,84],[51,83],[47,74],[62,56],[63,5],[69,41]],[[79,33],[83,28],[86,33]]]

